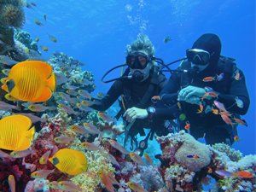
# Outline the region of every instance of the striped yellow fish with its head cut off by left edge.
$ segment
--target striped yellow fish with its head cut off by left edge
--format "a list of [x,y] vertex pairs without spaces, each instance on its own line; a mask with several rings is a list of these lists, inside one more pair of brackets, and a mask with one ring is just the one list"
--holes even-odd
[[26,150],[30,147],[35,128],[32,120],[20,114],[0,120],[0,148],[7,150]]

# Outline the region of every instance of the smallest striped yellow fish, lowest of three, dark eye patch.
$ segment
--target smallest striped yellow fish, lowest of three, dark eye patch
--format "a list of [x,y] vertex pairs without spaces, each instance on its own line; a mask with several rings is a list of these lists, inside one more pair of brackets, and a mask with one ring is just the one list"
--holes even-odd
[[62,148],[49,158],[49,161],[61,172],[78,175],[88,168],[86,156],[78,150]]

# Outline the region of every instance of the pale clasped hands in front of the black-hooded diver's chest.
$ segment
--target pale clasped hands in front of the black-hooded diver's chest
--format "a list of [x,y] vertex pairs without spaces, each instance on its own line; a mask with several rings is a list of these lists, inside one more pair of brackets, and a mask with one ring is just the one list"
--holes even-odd
[[201,87],[195,87],[195,86],[187,86],[179,91],[177,100],[178,101],[189,101],[190,97],[197,96],[202,97],[207,93],[207,91]]

